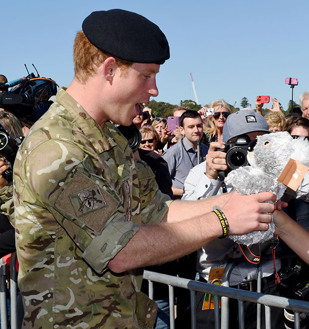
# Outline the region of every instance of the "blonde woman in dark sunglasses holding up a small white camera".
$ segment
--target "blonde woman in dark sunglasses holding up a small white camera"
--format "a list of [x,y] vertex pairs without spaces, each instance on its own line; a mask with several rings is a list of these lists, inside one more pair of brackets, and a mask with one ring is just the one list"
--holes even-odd
[[[204,135],[201,143],[207,145],[211,142],[222,143],[222,131],[226,118],[232,113],[229,105],[223,100],[219,99],[209,104],[209,108],[214,108],[214,115],[208,116],[208,128],[204,128]],[[202,116],[202,119],[206,118],[206,107],[203,107],[198,113]]]

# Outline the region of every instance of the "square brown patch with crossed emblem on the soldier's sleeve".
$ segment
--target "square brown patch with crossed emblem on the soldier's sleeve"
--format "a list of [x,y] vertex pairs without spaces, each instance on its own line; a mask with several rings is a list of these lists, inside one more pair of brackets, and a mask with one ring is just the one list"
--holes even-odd
[[64,213],[69,214],[95,232],[101,233],[118,205],[119,202],[110,193],[77,171],[60,194],[55,207],[64,216]]

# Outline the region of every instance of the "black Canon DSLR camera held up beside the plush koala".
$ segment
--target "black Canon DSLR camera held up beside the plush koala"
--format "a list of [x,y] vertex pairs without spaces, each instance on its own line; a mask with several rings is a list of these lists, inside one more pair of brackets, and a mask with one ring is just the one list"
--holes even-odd
[[247,160],[248,152],[251,152],[256,145],[256,140],[251,141],[248,135],[240,135],[234,142],[226,143],[224,149],[217,149],[226,153],[226,164],[228,170],[218,171],[218,176],[221,180],[224,180],[226,175],[234,169],[249,165]]

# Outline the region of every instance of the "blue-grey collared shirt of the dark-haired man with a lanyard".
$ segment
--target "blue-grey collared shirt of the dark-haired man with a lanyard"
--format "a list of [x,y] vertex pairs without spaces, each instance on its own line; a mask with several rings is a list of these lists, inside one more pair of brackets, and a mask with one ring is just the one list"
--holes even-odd
[[[166,150],[162,157],[167,162],[168,170],[172,180],[172,187],[183,188],[185,178],[190,169],[197,165],[197,152],[184,138],[183,143],[178,142],[168,150]],[[183,144],[183,145],[182,145]],[[201,144],[201,161],[205,160],[208,152],[208,147]]]

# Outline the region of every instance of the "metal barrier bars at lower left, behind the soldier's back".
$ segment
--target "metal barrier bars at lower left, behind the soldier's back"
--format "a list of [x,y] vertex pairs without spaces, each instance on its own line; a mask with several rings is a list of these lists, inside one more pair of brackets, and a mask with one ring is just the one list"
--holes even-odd
[[7,281],[10,287],[10,328],[17,329],[17,271],[16,271],[16,252],[11,254],[10,259],[10,277],[7,280],[8,266],[0,259],[0,318],[1,318],[1,329],[8,328],[7,320]]

